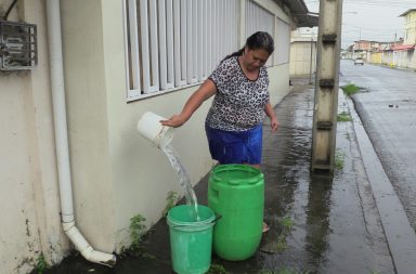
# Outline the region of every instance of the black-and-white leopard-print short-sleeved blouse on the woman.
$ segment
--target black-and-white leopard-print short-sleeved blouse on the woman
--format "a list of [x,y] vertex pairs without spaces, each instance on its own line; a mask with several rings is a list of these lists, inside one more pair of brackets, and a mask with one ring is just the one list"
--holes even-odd
[[224,60],[208,77],[217,86],[212,106],[206,123],[213,129],[246,131],[264,119],[269,102],[269,75],[260,67],[257,80],[249,80],[243,73],[238,56]]

